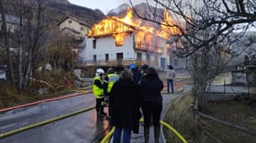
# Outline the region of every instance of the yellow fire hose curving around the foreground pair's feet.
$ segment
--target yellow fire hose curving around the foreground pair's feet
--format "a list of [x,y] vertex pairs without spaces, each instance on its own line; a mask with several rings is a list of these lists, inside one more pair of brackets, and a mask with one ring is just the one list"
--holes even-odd
[[[143,119],[140,119],[139,122],[144,122],[144,120],[143,120]],[[172,130],[172,132],[173,132],[179,139],[181,139],[182,143],[187,143],[187,140],[184,139],[184,138],[181,136],[181,134],[180,134],[177,130],[175,130],[174,128],[172,128],[171,125],[169,125],[168,123],[163,122],[163,121],[160,121],[160,123],[161,123],[164,127],[168,128],[169,130]],[[110,137],[111,137],[111,136],[113,135],[113,133],[114,133],[114,130],[115,130],[115,127],[113,127],[113,128],[110,130],[110,132],[102,139],[101,143],[108,143],[108,142],[110,141]]]

